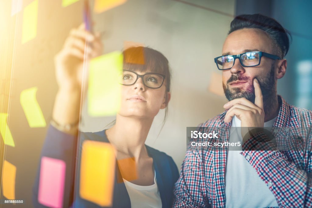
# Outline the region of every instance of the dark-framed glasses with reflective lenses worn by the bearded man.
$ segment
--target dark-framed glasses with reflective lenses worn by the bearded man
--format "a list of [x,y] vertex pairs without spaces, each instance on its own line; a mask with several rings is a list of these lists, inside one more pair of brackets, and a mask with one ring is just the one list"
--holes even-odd
[[271,59],[280,59],[280,57],[262,51],[253,51],[241,53],[238,55],[219,56],[215,58],[215,63],[219,70],[227,70],[234,66],[235,59],[239,58],[239,62],[243,67],[255,67],[260,65],[261,57],[265,56]]

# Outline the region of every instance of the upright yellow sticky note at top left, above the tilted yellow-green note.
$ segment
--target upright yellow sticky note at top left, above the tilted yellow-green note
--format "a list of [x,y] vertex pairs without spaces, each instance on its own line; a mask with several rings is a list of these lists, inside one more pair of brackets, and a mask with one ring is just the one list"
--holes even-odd
[[24,9],[22,44],[34,39],[37,36],[38,22],[38,0],[34,0]]

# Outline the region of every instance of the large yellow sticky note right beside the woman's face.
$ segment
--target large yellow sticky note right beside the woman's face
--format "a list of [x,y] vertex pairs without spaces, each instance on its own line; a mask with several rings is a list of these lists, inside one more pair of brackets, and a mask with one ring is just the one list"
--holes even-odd
[[123,55],[111,52],[90,61],[88,113],[90,116],[114,116],[120,109]]

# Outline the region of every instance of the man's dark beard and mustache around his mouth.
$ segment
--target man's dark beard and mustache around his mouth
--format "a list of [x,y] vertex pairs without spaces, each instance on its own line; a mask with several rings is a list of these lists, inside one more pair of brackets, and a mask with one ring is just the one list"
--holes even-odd
[[[275,78],[274,78],[274,63],[271,66],[271,71],[267,75],[263,77],[256,77],[259,81],[261,92],[263,95],[263,101],[270,100],[268,98],[275,96],[276,90],[275,90]],[[230,88],[229,83],[234,81],[247,81],[250,83],[245,89],[240,87],[234,87]],[[255,103],[255,88],[253,86],[253,80],[248,76],[243,75],[232,75],[227,80],[227,85],[223,83],[223,91],[225,94],[225,97],[228,101],[245,97],[247,100],[249,100],[252,103]]]

